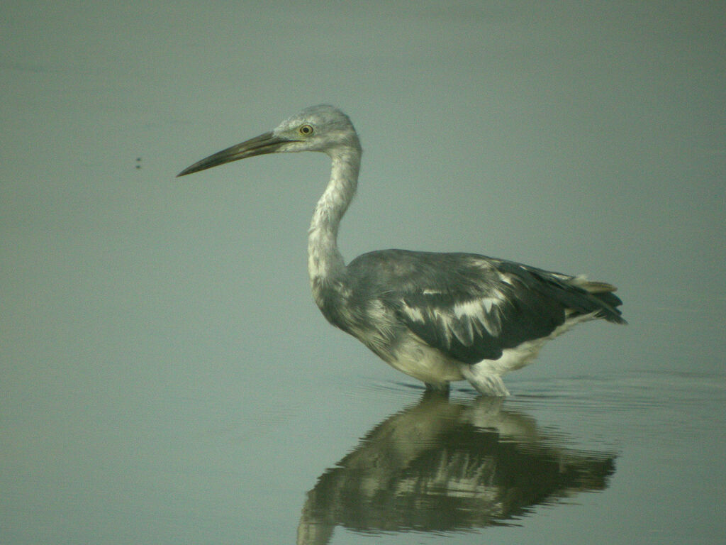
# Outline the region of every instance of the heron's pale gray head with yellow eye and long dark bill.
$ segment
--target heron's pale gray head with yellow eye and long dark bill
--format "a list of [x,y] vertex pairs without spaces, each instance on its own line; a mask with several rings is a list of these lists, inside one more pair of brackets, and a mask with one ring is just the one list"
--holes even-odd
[[265,153],[321,151],[335,158],[346,151],[360,153],[360,149],[356,129],[345,113],[329,105],[311,106],[285,119],[271,132],[197,161],[177,177]]

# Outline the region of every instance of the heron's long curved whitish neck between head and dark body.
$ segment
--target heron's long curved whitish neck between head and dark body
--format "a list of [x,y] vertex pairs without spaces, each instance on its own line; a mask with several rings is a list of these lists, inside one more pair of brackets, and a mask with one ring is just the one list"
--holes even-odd
[[308,232],[308,273],[318,306],[322,284],[334,283],[346,270],[338,250],[338,225],[356,193],[361,152],[343,148],[330,153],[330,158],[330,182],[315,206]]

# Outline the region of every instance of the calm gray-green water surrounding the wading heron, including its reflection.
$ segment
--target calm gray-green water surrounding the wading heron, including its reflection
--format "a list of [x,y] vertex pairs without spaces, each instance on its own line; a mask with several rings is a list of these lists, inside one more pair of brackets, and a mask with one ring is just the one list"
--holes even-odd
[[[724,541],[718,2],[0,12],[1,544]],[[174,179],[319,102],[348,259],[587,273],[630,325],[426,397],[311,302],[327,158]]]

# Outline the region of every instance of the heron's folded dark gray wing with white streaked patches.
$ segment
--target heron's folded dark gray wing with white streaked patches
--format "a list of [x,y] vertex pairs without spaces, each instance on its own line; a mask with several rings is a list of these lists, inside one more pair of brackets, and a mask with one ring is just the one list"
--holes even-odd
[[476,254],[376,251],[348,272],[359,294],[380,300],[427,344],[464,363],[546,337],[568,315],[622,321],[607,284],[597,284],[598,298],[574,277]]

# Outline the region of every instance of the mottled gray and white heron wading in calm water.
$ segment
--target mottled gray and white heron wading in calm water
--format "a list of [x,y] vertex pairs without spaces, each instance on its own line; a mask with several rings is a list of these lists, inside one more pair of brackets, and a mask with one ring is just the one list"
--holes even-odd
[[537,357],[577,323],[626,323],[609,283],[469,253],[388,249],[346,265],[338,227],[356,193],[362,148],[350,118],[311,106],[258,137],[214,153],[179,174],[266,153],[317,151],[330,179],[308,231],[314,302],[328,322],[393,368],[448,392],[466,380],[482,395],[506,396],[502,375]]

